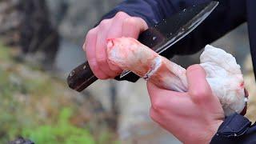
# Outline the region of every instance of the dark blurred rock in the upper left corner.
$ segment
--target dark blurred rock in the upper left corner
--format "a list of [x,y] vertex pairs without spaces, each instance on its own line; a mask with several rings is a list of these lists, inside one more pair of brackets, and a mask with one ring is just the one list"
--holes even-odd
[[58,30],[50,22],[46,1],[2,0],[0,12],[3,41],[20,47],[22,59],[28,56],[50,66],[58,52]]

